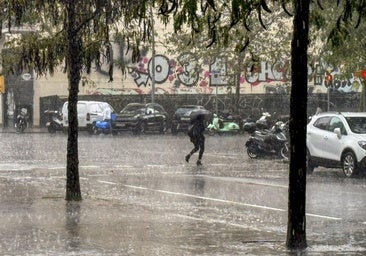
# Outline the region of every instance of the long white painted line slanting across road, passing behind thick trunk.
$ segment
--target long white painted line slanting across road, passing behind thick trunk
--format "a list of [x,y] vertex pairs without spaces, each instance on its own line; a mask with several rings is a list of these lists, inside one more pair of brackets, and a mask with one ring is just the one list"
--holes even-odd
[[[269,206],[263,206],[263,205],[257,205],[257,204],[240,203],[240,202],[235,202],[235,201],[231,201],[231,200],[224,200],[224,199],[211,198],[211,197],[205,197],[205,196],[196,196],[196,195],[191,195],[191,194],[186,194],[186,193],[172,192],[172,191],[160,190],[160,189],[151,189],[151,188],[133,186],[133,185],[123,185],[123,186],[127,187],[127,188],[150,190],[150,191],[155,191],[155,192],[169,194],[169,195],[185,196],[185,197],[190,197],[190,198],[195,198],[195,199],[203,199],[203,200],[219,202],[219,203],[230,203],[230,204],[234,204],[234,205],[258,208],[258,209],[264,209],[264,210],[271,210],[271,211],[277,211],[277,212],[287,212],[287,210],[284,210],[284,209],[269,207]],[[342,220],[342,218],[319,215],[319,214],[306,213],[306,215],[311,216],[311,217],[322,218],[322,219]]]

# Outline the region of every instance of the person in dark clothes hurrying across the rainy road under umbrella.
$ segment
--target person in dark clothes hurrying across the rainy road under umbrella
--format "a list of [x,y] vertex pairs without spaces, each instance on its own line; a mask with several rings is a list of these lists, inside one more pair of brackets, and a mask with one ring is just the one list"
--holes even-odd
[[188,136],[193,143],[194,148],[185,157],[187,163],[189,162],[191,156],[199,151],[197,165],[202,165],[202,156],[203,152],[205,151],[205,136],[203,134],[205,131],[204,119],[204,115],[197,115],[197,117],[193,120],[190,129],[188,130]]

